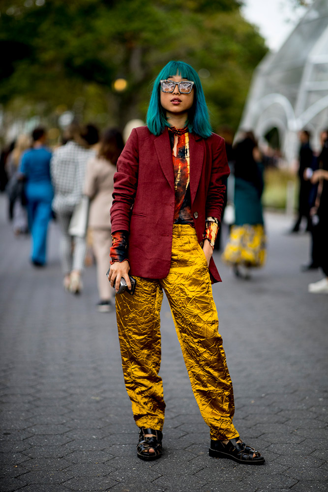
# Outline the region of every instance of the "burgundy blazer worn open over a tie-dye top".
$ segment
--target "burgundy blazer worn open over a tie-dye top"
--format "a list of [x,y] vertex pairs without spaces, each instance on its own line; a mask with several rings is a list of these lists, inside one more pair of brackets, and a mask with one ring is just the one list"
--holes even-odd
[[[203,246],[206,217],[220,220],[229,166],[224,139],[212,133],[203,139],[189,133],[191,212]],[[134,128],[114,175],[112,232],[129,232],[130,274],[165,278],[171,266],[175,205],[174,169],[168,129],[156,137],[147,126]],[[211,281],[221,278],[213,258]]]

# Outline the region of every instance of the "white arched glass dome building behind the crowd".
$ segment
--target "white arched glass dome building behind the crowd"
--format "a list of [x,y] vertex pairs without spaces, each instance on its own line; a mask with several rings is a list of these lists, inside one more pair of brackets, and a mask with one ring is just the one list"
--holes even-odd
[[276,53],[255,70],[239,130],[274,135],[287,163],[298,154],[298,131],[306,128],[319,149],[328,128],[328,0],[317,0]]

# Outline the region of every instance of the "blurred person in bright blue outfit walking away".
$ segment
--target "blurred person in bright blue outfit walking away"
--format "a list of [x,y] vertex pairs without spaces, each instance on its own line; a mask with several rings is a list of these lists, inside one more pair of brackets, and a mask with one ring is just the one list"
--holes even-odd
[[29,228],[31,232],[31,262],[34,266],[46,263],[48,224],[54,196],[50,177],[51,152],[46,148],[46,130],[37,127],[32,132],[33,146],[22,157],[20,175],[26,182]]

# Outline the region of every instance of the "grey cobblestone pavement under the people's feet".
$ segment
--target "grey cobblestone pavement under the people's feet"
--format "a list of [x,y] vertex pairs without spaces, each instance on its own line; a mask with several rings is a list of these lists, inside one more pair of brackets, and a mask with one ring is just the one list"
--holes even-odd
[[300,273],[309,238],[267,215],[268,263],[250,281],[216,261],[213,287],[234,382],[235,425],[265,466],[209,458],[204,424],[164,302],[167,413],[164,453],[136,457],[114,313],[98,313],[95,269],[81,296],[64,292],[59,231],[49,264],[33,269],[29,238],[14,238],[0,197],[1,479],[22,492],[309,492],[328,490],[328,296],[307,293],[320,272]]

